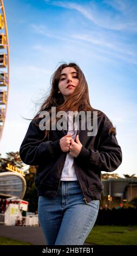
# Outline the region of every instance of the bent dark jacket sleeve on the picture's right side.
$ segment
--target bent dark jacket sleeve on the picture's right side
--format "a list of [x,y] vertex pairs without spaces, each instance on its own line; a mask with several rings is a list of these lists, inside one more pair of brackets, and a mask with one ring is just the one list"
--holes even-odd
[[82,146],[80,154],[76,157],[79,161],[86,160],[89,167],[104,172],[113,172],[122,162],[122,151],[115,137],[113,125],[109,124],[103,128],[100,137],[99,147],[96,150],[86,149]]

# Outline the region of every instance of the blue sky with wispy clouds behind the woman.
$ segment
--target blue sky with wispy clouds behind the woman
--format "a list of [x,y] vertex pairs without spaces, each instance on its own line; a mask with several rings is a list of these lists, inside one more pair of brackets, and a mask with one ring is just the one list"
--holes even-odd
[[123,162],[113,173],[136,173],[137,2],[4,1],[10,47],[8,113],[2,156],[17,151],[43,102],[59,62],[76,62],[90,103],[116,126]]

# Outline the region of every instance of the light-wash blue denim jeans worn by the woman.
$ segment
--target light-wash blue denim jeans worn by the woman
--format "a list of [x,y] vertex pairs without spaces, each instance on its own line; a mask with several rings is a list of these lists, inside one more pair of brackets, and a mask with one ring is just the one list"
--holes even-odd
[[38,198],[38,218],[47,245],[83,245],[99,211],[99,200],[86,204],[78,181],[61,181],[55,199]]

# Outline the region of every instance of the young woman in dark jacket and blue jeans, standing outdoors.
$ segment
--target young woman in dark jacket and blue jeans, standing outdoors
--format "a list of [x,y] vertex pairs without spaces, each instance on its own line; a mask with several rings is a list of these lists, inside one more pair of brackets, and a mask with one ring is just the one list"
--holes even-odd
[[[49,114],[45,126],[43,113]],[[57,113],[66,113],[65,119]],[[44,130],[48,123],[50,129]],[[92,132],[88,132],[89,123],[94,124]],[[101,171],[113,172],[122,162],[115,135],[106,114],[90,105],[79,66],[60,65],[53,74],[50,95],[31,121],[19,150],[24,163],[37,167],[38,217],[47,245],[83,245],[99,210]]]

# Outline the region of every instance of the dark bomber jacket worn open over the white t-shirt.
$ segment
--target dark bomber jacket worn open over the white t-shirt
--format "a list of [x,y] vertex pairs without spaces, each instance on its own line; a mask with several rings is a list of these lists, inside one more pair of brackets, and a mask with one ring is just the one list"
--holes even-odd
[[[74,157],[74,168],[81,187],[83,200],[90,202],[101,199],[103,185],[101,171],[113,172],[122,162],[121,148],[116,139],[115,129],[106,114],[94,109],[97,116],[96,136],[87,136],[87,130],[77,131],[82,149],[79,156]],[[31,166],[38,166],[35,186],[39,196],[55,198],[60,186],[60,179],[66,154],[60,148],[60,139],[67,130],[50,131],[41,142],[45,131],[31,121],[23,139],[19,155],[22,161]]]

